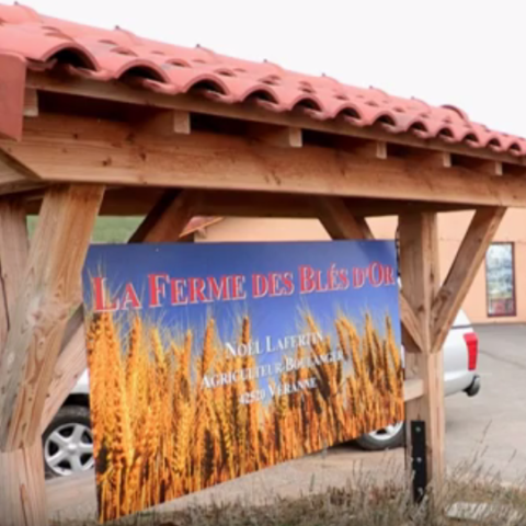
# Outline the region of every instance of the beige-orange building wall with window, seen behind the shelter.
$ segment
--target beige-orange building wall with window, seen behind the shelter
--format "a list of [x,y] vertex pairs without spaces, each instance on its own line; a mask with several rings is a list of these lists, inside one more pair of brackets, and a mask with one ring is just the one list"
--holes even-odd
[[[472,213],[439,216],[441,273],[446,276]],[[204,218],[203,218],[204,219]],[[466,298],[464,309],[473,323],[526,322],[526,210],[510,209]],[[313,241],[329,239],[316,219],[209,218],[196,221],[196,242]],[[369,219],[378,239],[392,239],[396,219]]]

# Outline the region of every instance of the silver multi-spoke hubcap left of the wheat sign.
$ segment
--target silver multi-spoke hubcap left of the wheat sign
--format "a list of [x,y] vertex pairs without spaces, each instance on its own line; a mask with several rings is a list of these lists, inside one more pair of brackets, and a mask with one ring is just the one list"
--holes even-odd
[[57,427],[44,445],[46,465],[56,474],[71,474],[93,467],[93,435],[79,423]]

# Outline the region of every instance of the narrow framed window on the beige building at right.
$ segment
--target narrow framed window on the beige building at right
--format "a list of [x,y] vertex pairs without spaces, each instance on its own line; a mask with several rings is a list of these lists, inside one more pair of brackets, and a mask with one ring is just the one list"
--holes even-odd
[[493,243],[485,254],[488,316],[516,316],[513,243]]

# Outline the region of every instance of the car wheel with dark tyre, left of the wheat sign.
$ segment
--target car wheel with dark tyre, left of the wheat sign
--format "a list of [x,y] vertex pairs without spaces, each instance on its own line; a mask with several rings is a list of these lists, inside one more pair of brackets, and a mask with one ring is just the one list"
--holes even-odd
[[90,410],[65,405],[43,436],[47,477],[80,473],[93,467],[93,433]]

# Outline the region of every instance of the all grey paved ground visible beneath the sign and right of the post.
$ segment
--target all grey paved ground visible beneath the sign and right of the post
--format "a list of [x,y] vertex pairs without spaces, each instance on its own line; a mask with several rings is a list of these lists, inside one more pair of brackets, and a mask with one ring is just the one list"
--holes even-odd
[[[476,462],[505,480],[526,476],[526,327],[480,327],[479,373],[482,390],[446,401],[446,459],[449,469]],[[163,506],[250,500],[261,502],[278,493],[295,495],[327,485],[343,485],[348,478],[385,477],[403,469],[403,451],[370,454],[338,447],[275,468],[252,473],[217,488],[179,499]],[[61,508],[62,518],[89,517],[91,502]]]

